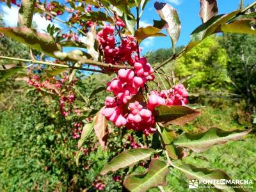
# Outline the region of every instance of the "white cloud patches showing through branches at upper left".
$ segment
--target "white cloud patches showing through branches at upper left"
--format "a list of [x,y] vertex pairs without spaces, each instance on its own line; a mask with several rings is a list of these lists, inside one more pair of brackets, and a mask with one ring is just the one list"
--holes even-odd
[[[6,26],[15,27],[17,26],[18,22],[18,13],[19,13],[19,7],[12,6],[12,8],[8,8],[8,6],[4,5],[0,7],[0,10],[2,10],[3,13],[3,21]],[[35,22],[38,31],[44,33],[44,30],[47,29],[47,26],[49,24],[52,24],[51,21],[46,20],[45,18],[41,17],[39,13],[36,13],[33,16],[33,22]],[[60,28],[59,24],[54,23],[55,26]]]

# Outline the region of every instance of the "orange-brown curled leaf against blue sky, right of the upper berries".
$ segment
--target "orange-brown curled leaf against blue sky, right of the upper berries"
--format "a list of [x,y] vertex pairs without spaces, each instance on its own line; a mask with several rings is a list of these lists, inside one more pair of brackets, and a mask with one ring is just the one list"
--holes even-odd
[[159,33],[159,31],[161,31],[161,29],[153,26],[147,26],[146,28],[137,29],[134,36],[137,38],[139,43],[150,36],[166,36],[163,33]]

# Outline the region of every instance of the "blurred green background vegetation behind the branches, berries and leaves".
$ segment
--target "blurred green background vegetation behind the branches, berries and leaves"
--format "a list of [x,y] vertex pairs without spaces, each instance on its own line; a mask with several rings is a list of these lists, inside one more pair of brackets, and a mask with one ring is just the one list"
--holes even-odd
[[[168,75],[164,78],[166,86],[183,83],[191,95],[190,104],[201,107],[202,115],[181,127],[182,131],[206,131],[211,127],[226,131],[253,129],[243,141],[230,141],[199,155],[192,153],[182,161],[221,168],[234,179],[253,179],[254,183],[255,43],[256,39],[249,35],[211,36],[163,68]],[[178,47],[177,51],[182,48]],[[4,36],[0,38],[0,55],[29,58],[29,49]],[[148,61],[154,66],[170,56],[170,49],[147,53]],[[1,65],[8,66],[6,63],[10,61],[0,61]],[[77,106],[100,109],[108,93],[100,92],[92,98],[90,95],[93,90],[105,86],[111,77],[79,72],[77,79],[76,88],[83,95],[77,99]],[[129,170],[105,177],[98,175],[104,163],[124,150],[127,141],[121,137],[122,130],[112,130],[106,151],[93,144],[96,139],[92,134],[84,145],[90,153],[84,154],[77,166],[74,161],[77,140],[72,138],[74,117],[61,116],[60,98],[38,92],[20,80],[11,77],[0,83],[0,191],[95,191],[92,187],[95,180],[106,184],[104,191],[121,191],[120,182],[113,177],[121,176],[122,180]],[[89,102],[84,102],[84,98],[90,99]],[[136,138],[135,134],[133,136]],[[136,171],[144,170],[138,166]],[[253,187],[254,190],[249,191],[255,191],[255,184]],[[164,189],[188,191],[188,180],[173,170]]]

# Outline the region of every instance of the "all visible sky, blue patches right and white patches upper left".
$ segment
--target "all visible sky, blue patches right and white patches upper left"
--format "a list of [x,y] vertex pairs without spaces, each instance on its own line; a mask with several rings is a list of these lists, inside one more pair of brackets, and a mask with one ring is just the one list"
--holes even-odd
[[[255,0],[245,0],[244,4],[253,3]],[[141,17],[140,26],[147,26],[153,24],[153,19],[159,20],[159,16],[154,9],[154,3],[156,1],[150,0],[143,12]],[[202,22],[198,16],[200,9],[199,0],[165,0],[161,1],[165,3],[170,3],[174,8],[177,9],[181,21],[181,33],[180,39],[177,45],[186,45],[189,42],[190,33],[199,26]],[[240,0],[218,0],[219,14],[229,13],[237,9]],[[17,25],[17,16],[18,16],[18,7],[12,6],[10,10],[5,4],[0,3],[0,13],[3,15],[3,19],[8,26]],[[63,18],[64,19],[64,18]],[[49,21],[42,19],[37,13],[33,17],[33,21],[36,22],[38,29],[42,32],[47,28]],[[60,23],[56,22],[58,26],[61,26]],[[170,48],[171,41],[170,37],[154,37],[148,38],[141,43],[143,47],[143,53],[147,51],[154,51],[159,48]]]

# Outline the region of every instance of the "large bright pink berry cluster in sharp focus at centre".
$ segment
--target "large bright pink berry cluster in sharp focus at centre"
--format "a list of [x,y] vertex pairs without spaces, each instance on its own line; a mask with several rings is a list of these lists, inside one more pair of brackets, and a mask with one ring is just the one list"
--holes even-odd
[[118,76],[109,82],[107,90],[115,97],[107,97],[106,108],[102,110],[102,115],[113,122],[117,127],[126,125],[128,129],[143,131],[145,134],[156,131],[152,128],[154,117],[145,105],[137,102],[129,103],[129,114],[124,111],[125,105],[138,94],[147,81],[154,79],[154,69],[147,63],[146,58],[141,58],[134,63],[134,70],[120,69]]

